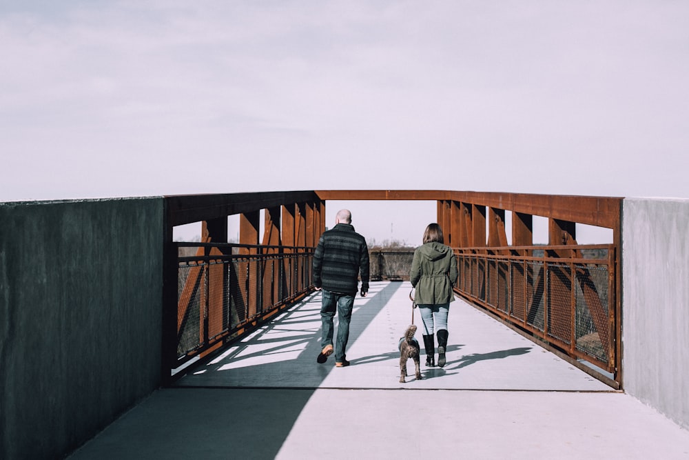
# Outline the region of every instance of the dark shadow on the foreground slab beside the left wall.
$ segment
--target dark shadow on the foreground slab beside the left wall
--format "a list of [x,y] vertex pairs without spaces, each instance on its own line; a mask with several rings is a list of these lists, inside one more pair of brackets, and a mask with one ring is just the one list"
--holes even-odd
[[314,391],[163,388],[68,459],[274,459]]

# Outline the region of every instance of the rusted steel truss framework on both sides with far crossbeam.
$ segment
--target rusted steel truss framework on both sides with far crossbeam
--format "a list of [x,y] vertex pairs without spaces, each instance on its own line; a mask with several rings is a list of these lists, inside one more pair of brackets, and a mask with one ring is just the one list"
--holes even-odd
[[[617,256],[621,247],[621,198],[446,190],[307,190],[183,195],[165,200],[165,305],[175,306],[176,310],[176,314],[164,315],[167,332],[163,372],[167,374],[177,363],[180,330],[189,321],[192,300],[201,299],[208,306],[198,326],[201,335],[216,334],[211,325],[222,323],[221,312],[226,314],[227,301],[214,290],[202,288],[201,279],[208,279],[212,286],[224,286],[218,292],[230,292],[227,285],[236,283],[237,291],[232,295],[246,299],[236,315],[245,321],[243,330],[248,331],[271,317],[280,299],[294,298],[296,292],[286,297],[284,292],[278,294],[280,286],[295,286],[298,290],[309,287],[308,259],[291,257],[307,254],[316,246],[325,230],[326,201],[425,200],[436,201],[446,243],[457,250],[458,260],[469,270],[462,274],[458,294],[514,328],[533,334],[573,363],[580,359],[593,362],[612,375],[608,383],[621,387],[621,277]],[[265,216],[263,238],[258,234],[261,210]],[[507,212],[511,213],[511,245],[505,228]],[[236,254],[228,254],[226,246],[227,216],[232,214],[240,214]],[[534,216],[548,219],[547,246],[533,246]],[[213,258],[222,261],[240,256],[245,262],[190,268],[183,287],[176,292],[180,262],[177,246],[172,243],[172,228],[197,221],[202,222],[205,244],[200,245],[196,257],[210,262]],[[613,231],[613,244],[606,246],[604,262],[592,262],[582,255],[587,248],[577,244],[577,223]],[[539,250],[542,254],[536,256]],[[258,263],[261,257],[280,257],[282,270]],[[601,284],[601,272],[607,277],[606,286]],[[260,294],[251,295],[251,286],[242,277],[260,280],[256,284],[260,285]],[[542,304],[543,328],[539,328],[532,323]],[[172,319],[175,317],[176,321]],[[590,324],[587,337],[577,337],[576,321]],[[597,341],[593,352],[586,348],[591,341]]]

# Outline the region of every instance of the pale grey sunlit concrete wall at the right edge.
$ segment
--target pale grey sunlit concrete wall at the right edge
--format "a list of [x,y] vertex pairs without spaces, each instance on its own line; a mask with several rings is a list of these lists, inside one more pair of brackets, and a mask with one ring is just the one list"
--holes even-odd
[[689,200],[625,199],[624,390],[689,428]]

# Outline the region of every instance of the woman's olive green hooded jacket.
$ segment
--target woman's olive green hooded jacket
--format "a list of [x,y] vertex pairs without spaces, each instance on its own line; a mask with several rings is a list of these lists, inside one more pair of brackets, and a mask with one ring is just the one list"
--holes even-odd
[[435,241],[416,248],[409,279],[416,289],[414,303],[417,305],[454,301],[452,286],[457,281],[457,258],[452,248]]

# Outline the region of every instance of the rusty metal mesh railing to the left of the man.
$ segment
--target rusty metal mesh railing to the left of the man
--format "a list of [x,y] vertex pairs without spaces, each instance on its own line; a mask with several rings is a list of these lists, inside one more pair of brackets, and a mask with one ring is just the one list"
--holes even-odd
[[176,243],[177,365],[216,350],[272,317],[311,286],[313,248]]

